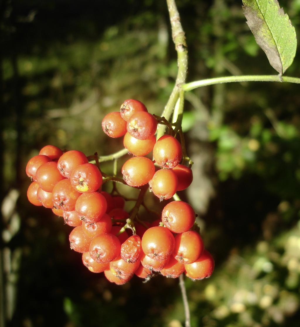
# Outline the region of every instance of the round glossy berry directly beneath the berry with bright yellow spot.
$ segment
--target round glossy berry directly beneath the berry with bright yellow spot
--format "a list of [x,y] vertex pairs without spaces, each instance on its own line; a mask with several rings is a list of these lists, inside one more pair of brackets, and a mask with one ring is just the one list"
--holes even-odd
[[80,219],[87,223],[95,223],[105,214],[106,198],[101,193],[82,193],[75,204],[75,211]]

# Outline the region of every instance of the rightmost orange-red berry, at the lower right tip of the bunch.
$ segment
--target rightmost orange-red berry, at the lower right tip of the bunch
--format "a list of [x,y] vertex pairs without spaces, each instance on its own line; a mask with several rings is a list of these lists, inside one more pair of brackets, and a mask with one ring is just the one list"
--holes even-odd
[[186,275],[192,279],[208,278],[214,271],[215,262],[212,255],[204,250],[201,257],[199,257],[192,264],[185,265]]

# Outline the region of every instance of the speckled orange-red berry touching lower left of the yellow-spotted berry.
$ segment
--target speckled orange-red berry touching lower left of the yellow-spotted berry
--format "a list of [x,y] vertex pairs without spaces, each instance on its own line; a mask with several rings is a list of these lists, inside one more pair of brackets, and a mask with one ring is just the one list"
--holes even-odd
[[64,179],[56,183],[52,191],[53,205],[56,209],[64,211],[75,210],[75,203],[81,193],[77,192],[71,185],[69,179]]

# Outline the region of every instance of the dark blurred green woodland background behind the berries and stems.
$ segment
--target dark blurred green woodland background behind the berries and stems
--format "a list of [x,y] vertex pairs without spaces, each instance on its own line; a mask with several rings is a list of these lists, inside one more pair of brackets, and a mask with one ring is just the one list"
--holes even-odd
[[[280,4],[300,35],[300,1]],[[275,74],[241,2],[177,5],[189,81]],[[177,74],[165,2],[4,0],[0,14],[1,197],[20,192],[2,224],[4,259],[13,263],[4,274],[12,294],[7,326],[181,326],[176,280],[109,284],[70,251],[61,218],[26,199],[25,166],[42,146],[109,154],[122,141],[102,132],[107,112],[127,98],[162,112]],[[286,75],[299,76],[299,66],[297,53]],[[299,87],[287,83],[232,83],[186,95],[194,181],[180,196],[202,204],[201,232],[216,259],[211,279],[186,281],[193,326],[299,325],[299,106]],[[112,164],[102,169],[111,172]]]

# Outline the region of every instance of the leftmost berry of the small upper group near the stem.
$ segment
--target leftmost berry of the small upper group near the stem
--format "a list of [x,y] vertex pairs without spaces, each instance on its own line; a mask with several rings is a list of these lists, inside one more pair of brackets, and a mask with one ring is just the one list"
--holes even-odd
[[102,120],[102,129],[109,137],[121,137],[127,132],[126,121],[120,112],[110,112]]

